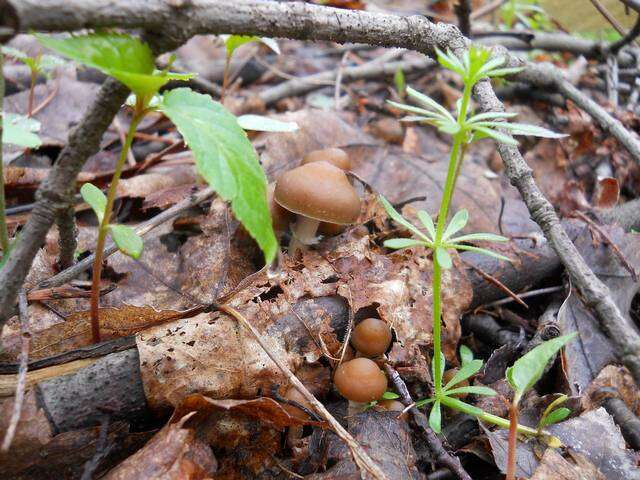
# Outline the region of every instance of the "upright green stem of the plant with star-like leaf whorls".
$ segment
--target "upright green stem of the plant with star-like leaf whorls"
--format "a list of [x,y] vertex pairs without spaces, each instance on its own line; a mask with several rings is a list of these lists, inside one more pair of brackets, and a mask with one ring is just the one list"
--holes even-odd
[[[458,117],[458,125],[462,127],[467,119],[467,109],[469,108],[469,101],[471,99],[471,86],[465,84],[464,92],[462,93],[462,103],[460,106],[460,115]],[[462,128],[461,128],[462,130]],[[442,201],[440,202],[440,211],[438,212],[438,223],[436,226],[436,238],[434,239],[434,251],[442,245],[442,235],[444,233],[444,227],[447,223],[447,216],[449,214],[449,206],[451,205],[451,199],[453,198],[453,192],[455,191],[456,181],[458,179],[458,173],[460,171],[460,165],[462,164],[462,155],[466,148],[461,148],[465,141],[464,135],[456,134],[453,137],[453,146],[451,147],[451,154],[449,156],[449,168],[447,169],[447,178],[445,180],[444,191],[442,193]],[[461,155],[462,153],[462,155]],[[435,259],[433,262],[433,370],[434,370],[434,383],[436,395],[442,392],[442,325],[441,325],[441,311],[442,311],[442,270],[438,261]]]

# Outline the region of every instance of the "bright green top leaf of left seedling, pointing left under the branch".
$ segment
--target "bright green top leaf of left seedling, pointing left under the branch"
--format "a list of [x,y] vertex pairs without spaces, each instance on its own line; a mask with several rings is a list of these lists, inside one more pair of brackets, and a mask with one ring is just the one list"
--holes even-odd
[[141,97],[155,94],[170,80],[193,76],[157,71],[149,45],[129,35],[99,32],[67,38],[36,37],[45,47],[112,76]]

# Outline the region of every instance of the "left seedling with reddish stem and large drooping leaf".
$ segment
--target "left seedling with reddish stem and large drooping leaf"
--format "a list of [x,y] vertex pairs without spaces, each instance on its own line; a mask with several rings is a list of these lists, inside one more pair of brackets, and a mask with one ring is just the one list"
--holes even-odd
[[[111,224],[111,216],[118,181],[136,128],[150,111],[162,112],[175,124],[193,151],[198,173],[221,198],[231,203],[234,215],[256,240],[266,262],[273,261],[278,244],[266,200],[266,176],[238,119],[210,96],[189,88],[159,94],[169,81],[188,80],[191,74],[156,69],[151,48],[128,35],[91,33],[68,38],[38,38],[57,53],[114,77],[133,93],[131,122],[107,194],[90,184],[81,189],[99,221],[91,289],[94,342],[100,341],[99,284],[107,235],[111,235],[124,254],[137,258],[142,253],[142,239],[130,227]],[[273,123],[269,127],[275,129]]]

